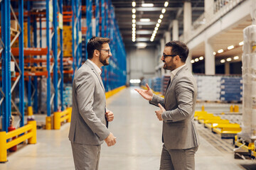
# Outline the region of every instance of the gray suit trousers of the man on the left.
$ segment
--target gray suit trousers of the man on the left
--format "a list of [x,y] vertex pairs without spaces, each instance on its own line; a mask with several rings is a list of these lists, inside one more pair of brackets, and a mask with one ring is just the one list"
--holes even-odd
[[75,170],[97,170],[100,162],[100,145],[83,145],[71,142]]

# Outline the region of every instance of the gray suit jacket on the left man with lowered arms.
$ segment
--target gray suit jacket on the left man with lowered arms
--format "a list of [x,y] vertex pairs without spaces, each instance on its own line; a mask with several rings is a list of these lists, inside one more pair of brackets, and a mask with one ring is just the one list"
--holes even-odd
[[69,139],[84,145],[101,145],[110,135],[106,127],[105,89],[100,75],[86,61],[73,79],[73,109]]

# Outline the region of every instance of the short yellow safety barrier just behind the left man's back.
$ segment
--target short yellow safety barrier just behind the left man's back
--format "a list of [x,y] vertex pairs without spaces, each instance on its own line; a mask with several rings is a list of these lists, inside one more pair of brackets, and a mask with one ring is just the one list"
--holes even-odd
[[53,113],[53,128],[55,130],[60,129],[60,125],[62,122],[67,120],[67,123],[70,123],[71,121],[71,113],[72,113],[72,108],[67,108],[65,111],[62,112],[55,112]]

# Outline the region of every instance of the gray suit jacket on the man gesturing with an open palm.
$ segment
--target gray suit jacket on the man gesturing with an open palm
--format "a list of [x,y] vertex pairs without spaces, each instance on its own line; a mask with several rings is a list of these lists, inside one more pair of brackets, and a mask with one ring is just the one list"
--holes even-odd
[[193,122],[196,96],[196,79],[185,66],[171,80],[165,97],[154,95],[149,102],[156,106],[160,103],[166,109],[162,118],[163,142],[167,149],[188,149],[199,145]]

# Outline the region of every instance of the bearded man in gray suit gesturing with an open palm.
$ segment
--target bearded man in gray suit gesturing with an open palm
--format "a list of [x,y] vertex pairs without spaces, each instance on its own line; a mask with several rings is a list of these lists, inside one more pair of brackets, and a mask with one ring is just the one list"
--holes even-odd
[[171,79],[164,98],[147,90],[135,89],[149,103],[158,106],[157,118],[163,121],[160,169],[195,169],[195,153],[199,141],[193,122],[197,85],[196,79],[186,67],[188,47],[180,41],[167,42],[161,60],[164,69],[171,70]]

